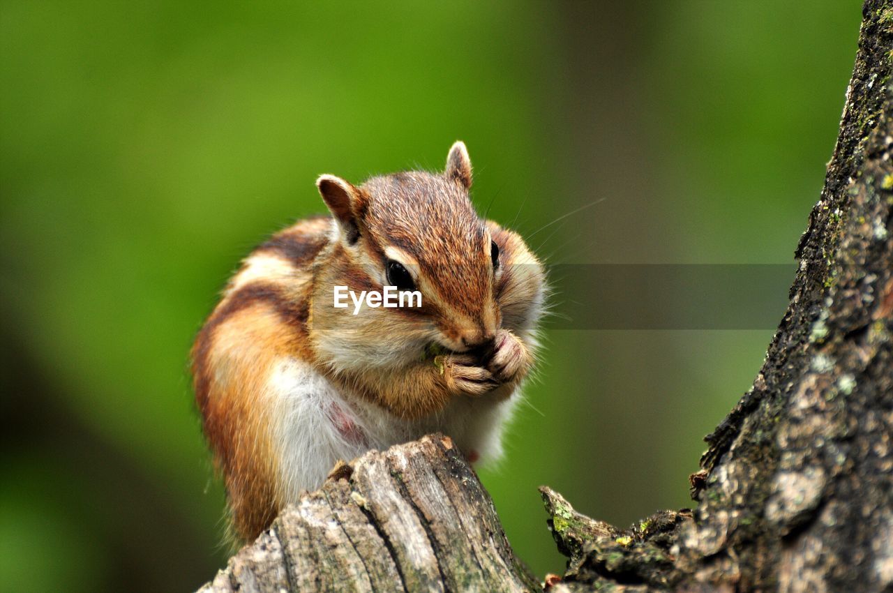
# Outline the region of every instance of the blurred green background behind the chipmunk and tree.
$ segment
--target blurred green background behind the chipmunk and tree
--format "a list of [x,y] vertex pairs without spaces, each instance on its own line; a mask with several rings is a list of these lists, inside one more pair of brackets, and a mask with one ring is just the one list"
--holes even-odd
[[[860,21],[855,0],[0,6],[7,590],[190,590],[224,564],[188,348],[238,259],[322,211],[317,174],[437,169],[462,138],[476,202],[522,234],[606,198],[531,241],[549,262],[789,263]],[[519,555],[563,570],[540,484],[620,525],[691,505],[771,336],[550,332],[480,472]]]

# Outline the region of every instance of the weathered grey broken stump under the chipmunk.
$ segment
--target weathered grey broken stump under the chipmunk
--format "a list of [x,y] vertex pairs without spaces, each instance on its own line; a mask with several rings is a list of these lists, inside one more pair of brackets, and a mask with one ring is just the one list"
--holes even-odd
[[430,435],[332,472],[203,591],[530,591],[487,491]]

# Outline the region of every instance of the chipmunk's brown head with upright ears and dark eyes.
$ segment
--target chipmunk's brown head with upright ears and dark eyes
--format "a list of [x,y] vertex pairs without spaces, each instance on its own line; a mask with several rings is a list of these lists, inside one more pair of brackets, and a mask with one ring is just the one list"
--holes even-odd
[[[431,344],[455,352],[488,347],[502,322],[495,287],[503,257],[469,199],[472,163],[462,142],[450,149],[443,173],[400,172],[359,187],[322,175],[317,186],[336,221],[329,275],[317,276],[313,305],[314,330],[330,333],[322,345],[330,360],[387,364],[417,359]],[[355,294],[385,286],[418,291],[421,307],[335,309],[338,283]]]

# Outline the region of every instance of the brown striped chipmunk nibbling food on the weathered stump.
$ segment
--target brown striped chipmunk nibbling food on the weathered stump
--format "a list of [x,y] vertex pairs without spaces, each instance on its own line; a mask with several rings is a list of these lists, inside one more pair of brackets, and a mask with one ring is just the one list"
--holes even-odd
[[[192,348],[242,541],[339,459],[372,448],[439,430],[472,461],[497,458],[537,348],[543,266],[475,213],[462,142],[443,173],[316,185],[331,216],[297,221],[248,255]],[[418,291],[421,306],[339,308],[338,286]]]

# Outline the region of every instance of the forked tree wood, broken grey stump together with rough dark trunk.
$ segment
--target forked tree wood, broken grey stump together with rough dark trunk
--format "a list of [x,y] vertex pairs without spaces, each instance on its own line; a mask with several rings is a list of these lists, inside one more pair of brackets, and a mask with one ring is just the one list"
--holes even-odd
[[[867,0],[822,196],[753,388],[710,434],[694,512],[619,530],[541,489],[552,591],[893,589],[893,0]],[[433,435],[340,467],[203,591],[540,589]]]

